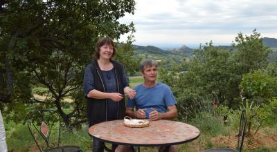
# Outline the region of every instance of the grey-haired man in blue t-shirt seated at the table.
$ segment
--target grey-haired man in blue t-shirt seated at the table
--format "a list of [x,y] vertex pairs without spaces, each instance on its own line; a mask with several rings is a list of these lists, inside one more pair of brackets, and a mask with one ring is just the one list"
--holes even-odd
[[[126,115],[149,120],[171,120],[177,117],[177,104],[172,91],[166,84],[157,82],[158,64],[153,59],[145,59],[140,65],[143,84],[134,87],[136,97],[128,99]],[[136,111],[134,111],[134,108]],[[157,147],[159,151],[166,147]],[[130,151],[127,146],[118,146],[118,151]],[[177,151],[172,145],[169,151]]]

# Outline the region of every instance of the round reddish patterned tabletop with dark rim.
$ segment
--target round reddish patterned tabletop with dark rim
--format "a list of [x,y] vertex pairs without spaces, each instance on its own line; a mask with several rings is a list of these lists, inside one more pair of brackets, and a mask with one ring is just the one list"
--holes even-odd
[[161,146],[181,144],[199,137],[195,126],[170,120],[150,121],[144,128],[129,128],[123,120],[95,124],[89,128],[89,135],[105,142],[133,146]]

